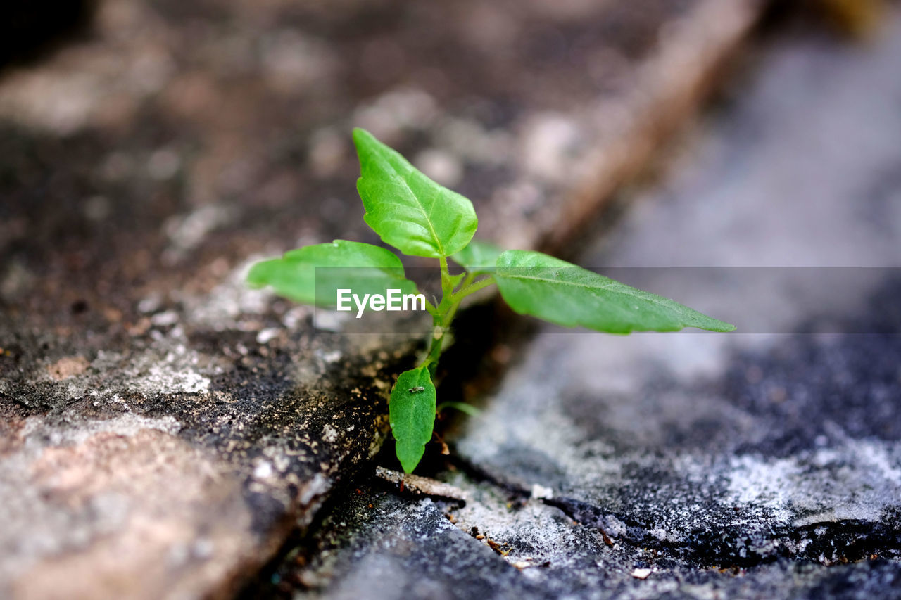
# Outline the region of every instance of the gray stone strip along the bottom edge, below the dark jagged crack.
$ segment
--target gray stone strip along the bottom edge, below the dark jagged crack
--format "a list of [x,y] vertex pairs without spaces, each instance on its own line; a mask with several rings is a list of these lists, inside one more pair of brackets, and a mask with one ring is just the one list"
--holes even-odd
[[[893,598],[901,577],[901,565],[886,559],[698,568],[622,537],[607,545],[596,526],[541,501],[511,509],[510,496],[490,486],[473,490],[474,510],[381,487],[359,491],[247,597]],[[636,571],[644,568],[650,573]]]

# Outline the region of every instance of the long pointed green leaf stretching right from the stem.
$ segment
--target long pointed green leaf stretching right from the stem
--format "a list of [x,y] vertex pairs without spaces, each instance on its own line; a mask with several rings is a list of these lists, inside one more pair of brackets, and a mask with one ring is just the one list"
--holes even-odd
[[717,321],[660,295],[626,286],[541,252],[507,250],[497,259],[497,287],[508,305],[565,327],[598,332],[676,332],[696,327],[731,332]]

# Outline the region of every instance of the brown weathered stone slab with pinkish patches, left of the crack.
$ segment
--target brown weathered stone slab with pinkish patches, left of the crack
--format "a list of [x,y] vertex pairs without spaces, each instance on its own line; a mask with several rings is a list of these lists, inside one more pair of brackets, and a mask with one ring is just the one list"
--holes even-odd
[[0,80],[0,595],[223,595],[378,450],[416,349],[313,332],[250,259],[342,237],[347,132],[563,234],[760,3],[142,3]]

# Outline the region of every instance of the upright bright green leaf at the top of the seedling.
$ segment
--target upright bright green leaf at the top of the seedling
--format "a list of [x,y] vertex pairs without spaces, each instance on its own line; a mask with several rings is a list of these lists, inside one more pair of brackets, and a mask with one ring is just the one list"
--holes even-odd
[[439,258],[463,250],[476,232],[468,198],[439,186],[366,130],[353,130],[363,219],[404,254]]

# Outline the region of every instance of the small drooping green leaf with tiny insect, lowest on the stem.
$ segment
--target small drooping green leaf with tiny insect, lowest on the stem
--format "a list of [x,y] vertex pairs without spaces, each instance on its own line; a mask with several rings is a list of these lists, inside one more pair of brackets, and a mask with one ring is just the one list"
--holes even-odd
[[414,368],[397,377],[388,412],[397,459],[411,473],[423,458],[425,444],[432,440],[435,424],[435,386],[428,368]]

